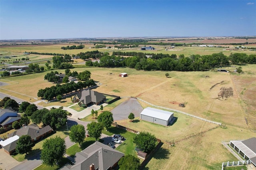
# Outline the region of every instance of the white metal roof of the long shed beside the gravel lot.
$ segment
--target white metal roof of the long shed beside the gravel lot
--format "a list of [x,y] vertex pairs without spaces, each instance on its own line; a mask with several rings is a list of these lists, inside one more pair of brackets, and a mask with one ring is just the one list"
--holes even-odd
[[170,116],[174,113],[170,111],[147,107],[140,114],[168,121]]

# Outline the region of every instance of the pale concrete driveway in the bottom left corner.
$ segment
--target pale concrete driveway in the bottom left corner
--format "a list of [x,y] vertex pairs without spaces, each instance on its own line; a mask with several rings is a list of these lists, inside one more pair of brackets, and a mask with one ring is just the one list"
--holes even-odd
[[0,168],[2,170],[10,170],[14,166],[20,164],[16,159],[12,158],[9,154],[4,152],[4,149],[0,149]]

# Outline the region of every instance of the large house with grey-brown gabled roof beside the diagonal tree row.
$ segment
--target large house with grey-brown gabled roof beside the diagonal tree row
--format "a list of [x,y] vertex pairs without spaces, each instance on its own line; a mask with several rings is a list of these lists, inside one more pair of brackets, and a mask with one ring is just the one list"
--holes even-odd
[[83,90],[74,96],[72,102],[81,102],[81,104],[85,104],[89,106],[91,104],[99,105],[106,100],[106,96],[99,92],[95,92],[92,90]]

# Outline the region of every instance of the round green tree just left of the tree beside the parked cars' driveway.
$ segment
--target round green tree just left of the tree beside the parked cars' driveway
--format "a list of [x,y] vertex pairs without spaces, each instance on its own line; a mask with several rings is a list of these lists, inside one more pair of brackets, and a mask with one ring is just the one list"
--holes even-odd
[[79,146],[85,139],[85,129],[83,125],[73,125],[70,128],[69,138],[71,142],[78,143]]

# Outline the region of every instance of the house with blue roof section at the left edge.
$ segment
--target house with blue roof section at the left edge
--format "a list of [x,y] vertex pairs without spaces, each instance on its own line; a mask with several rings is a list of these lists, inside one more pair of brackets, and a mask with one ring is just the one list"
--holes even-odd
[[20,115],[12,107],[0,109],[0,127],[6,128],[14,121],[20,121]]

